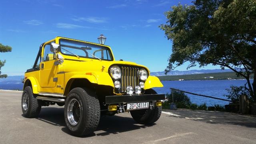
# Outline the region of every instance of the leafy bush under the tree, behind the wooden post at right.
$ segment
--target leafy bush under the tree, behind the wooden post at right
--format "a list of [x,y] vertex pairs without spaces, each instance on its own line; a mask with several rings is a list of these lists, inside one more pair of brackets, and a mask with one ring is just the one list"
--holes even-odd
[[228,91],[228,95],[226,96],[228,99],[232,100],[233,103],[239,102],[239,98],[242,95],[247,96],[249,101],[252,101],[252,96],[250,96],[250,92],[248,88],[245,86],[230,86],[230,89],[226,89]]

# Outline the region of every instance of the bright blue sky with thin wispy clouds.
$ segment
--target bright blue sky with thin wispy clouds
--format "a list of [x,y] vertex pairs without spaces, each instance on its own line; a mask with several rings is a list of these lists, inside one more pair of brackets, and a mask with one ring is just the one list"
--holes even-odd
[[[166,23],[164,12],[171,6],[191,1],[1,0],[0,43],[12,47],[12,52],[0,53],[0,60],[6,60],[1,72],[24,75],[34,64],[40,44],[56,36],[98,43],[100,34],[106,36],[105,44],[116,60],[145,65],[150,72],[164,71],[172,42],[158,26]],[[176,70],[186,70],[188,64]]]

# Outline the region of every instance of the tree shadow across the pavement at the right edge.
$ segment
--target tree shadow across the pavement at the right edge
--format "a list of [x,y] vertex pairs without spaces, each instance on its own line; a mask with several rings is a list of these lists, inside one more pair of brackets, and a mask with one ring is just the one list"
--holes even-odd
[[204,110],[163,110],[165,112],[171,112],[174,115],[170,117],[186,118],[188,120],[207,122],[211,124],[234,124],[240,126],[246,126],[249,128],[256,128],[256,118],[252,116],[239,115],[230,112],[215,112]]

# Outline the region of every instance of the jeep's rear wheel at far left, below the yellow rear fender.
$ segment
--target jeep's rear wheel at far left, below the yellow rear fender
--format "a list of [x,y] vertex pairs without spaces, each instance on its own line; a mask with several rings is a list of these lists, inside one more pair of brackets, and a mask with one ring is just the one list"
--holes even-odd
[[21,109],[26,118],[36,118],[41,111],[40,100],[37,100],[34,95],[32,88],[26,86],[21,97]]

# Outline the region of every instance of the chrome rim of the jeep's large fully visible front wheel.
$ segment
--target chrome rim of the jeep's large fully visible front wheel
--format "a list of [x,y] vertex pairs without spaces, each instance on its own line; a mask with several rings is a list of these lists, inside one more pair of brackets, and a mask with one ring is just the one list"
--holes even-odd
[[78,124],[81,117],[81,107],[78,100],[76,100],[75,98],[68,102],[67,116],[68,122],[72,126],[76,126]]

